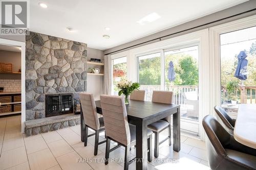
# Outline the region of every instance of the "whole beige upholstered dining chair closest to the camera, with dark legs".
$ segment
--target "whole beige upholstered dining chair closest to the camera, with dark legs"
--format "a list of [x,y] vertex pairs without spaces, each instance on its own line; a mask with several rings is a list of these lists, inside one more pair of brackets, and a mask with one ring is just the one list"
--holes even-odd
[[[105,164],[109,163],[110,152],[120,145],[125,148],[124,169],[129,168],[130,147],[136,144],[136,126],[128,123],[124,98],[113,95],[100,95],[102,115],[106,132]],[[152,131],[147,130],[147,160],[152,161]],[[110,149],[110,141],[113,140],[118,145]]]

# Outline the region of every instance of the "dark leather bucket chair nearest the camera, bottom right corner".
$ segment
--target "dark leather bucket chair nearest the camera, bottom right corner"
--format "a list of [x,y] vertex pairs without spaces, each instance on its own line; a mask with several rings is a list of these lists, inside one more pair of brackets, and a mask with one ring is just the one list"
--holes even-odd
[[256,150],[236,141],[215,117],[205,116],[203,127],[207,134],[207,157],[212,170],[256,169]]

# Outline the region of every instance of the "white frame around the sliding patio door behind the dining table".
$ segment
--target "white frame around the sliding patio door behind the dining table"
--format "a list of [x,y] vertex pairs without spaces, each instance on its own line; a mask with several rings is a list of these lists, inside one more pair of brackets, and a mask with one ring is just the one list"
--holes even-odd
[[[175,48],[177,46],[194,43],[199,44],[199,136],[204,140],[201,122],[202,118],[209,113],[208,29],[133,48],[129,51],[119,53],[118,55],[121,57],[123,55],[120,54],[127,54],[127,79],[137,82],[137,56],[155,53],[161,50],[161,55],[163,56],[163,49]],[[164,69],[161,74],[164,75]],[[162,76],[162,78],[164,78],[164,76]]]

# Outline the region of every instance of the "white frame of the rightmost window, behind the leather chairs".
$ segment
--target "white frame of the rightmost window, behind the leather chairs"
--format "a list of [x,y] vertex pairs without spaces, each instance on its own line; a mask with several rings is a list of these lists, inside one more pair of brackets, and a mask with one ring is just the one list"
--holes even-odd
[[[220,35],[232,31],[256,26],[256,15],[209,28],[209,57],[210,57],[210,108],[221,106],[221,53]],[[215,115],[214,109],[210,114]],[[231,114],[236,116],[236,114]]]

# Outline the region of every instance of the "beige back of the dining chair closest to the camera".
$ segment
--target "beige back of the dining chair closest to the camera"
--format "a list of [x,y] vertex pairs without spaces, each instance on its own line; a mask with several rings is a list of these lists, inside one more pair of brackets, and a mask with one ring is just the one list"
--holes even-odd
[[100,95],[106,136],[127,145],[131,142],[124,98]]

